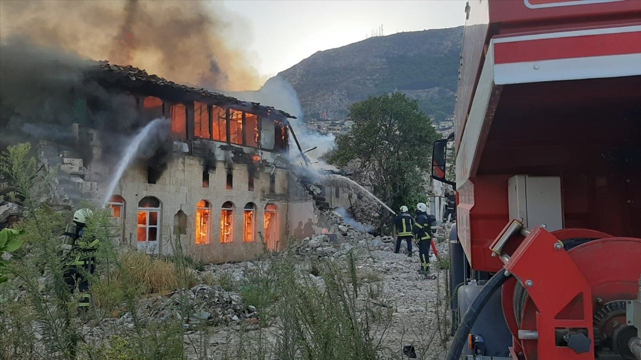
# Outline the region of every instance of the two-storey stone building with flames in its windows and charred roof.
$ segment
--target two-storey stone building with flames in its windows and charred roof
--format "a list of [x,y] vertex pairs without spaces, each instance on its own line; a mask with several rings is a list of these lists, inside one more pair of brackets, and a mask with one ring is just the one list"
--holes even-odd
[[[40,153],[50,165],[60,163],[60,183],[71,181],[67,188],[78,189],[82,199],[102,203],[107,197],[124,243],[158,254],[171,253],[178,239],[188,253],[208,262],[283,249],[291,115],[131,66],[101,62],[83,76],[118,94],[119,111],[134,114],[131,130],[96,129],[85,121],[102,105],[76,88],[68,104],[74,113],[70,144],[76,144],[69,149],[40,142]],[[159,118],[169,119],[167,128],[139,144],[135,159],[115,179],[113,194],[107,193],[124,152],[135,148],[128,142]]]

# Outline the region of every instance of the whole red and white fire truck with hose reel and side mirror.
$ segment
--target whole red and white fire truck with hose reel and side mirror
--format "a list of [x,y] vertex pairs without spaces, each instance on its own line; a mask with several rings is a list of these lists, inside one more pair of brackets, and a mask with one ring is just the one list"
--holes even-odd
[[447,359],[640,359],[641,1],[465,12]]

